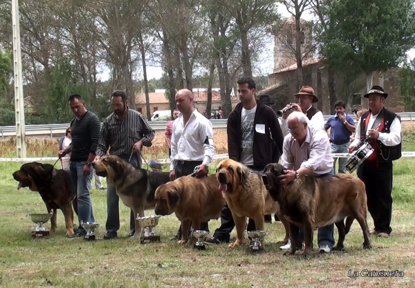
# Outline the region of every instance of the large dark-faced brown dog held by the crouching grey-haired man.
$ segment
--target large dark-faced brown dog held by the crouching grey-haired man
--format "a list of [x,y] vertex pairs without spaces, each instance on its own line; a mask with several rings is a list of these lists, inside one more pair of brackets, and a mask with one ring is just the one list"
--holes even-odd
[[[290,222],[291,235],[298,236],[299,227],[304,227],[304,255],[311,253],[313,229],[335,223],[339,239],[333,250],[344,249],[344,237],[356,218],[362,228],[363,248],[371,249],[369,228],[366,222],[367,204],[365,184],[350,174],[329,177],[302,176],[288,185],[281,185],[277,177],[284,174],[281,164],[268,164],[263,181],[270,195],[279,203],[279,208]],[[344,218],[347,218],[344,225]],[[291,238],[294,254],[298,238]]]

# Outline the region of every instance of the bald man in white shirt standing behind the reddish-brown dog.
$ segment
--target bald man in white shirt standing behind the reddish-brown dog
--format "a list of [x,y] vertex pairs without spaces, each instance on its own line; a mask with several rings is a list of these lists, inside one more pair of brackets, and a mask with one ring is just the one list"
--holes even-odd
[[[205,177],[214,155],[212,123],[194,108],[192,91],[179,90],[175,100],[180,114],[173,123],[170,179],[190,175],[195,169],[196,177]],[[209,231],[208,222],[193,228]],[[179,229],[171,239],[180,240],[183,233],[189,231]]]

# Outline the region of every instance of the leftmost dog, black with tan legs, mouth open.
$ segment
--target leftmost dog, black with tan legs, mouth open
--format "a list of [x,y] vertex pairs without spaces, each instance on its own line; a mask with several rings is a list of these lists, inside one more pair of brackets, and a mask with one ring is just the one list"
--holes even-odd
[[53,209],[50,232],[57,227],[57,209],[61,209],[65,216],[66,236],[73,234],[73,209],[77,213],[77,200],[69,171],[55,169],[50,164],[30,162],[21,165],[13,177],[19,182],[17,189],[29,187],[31,191],[39,192],[47,211]]

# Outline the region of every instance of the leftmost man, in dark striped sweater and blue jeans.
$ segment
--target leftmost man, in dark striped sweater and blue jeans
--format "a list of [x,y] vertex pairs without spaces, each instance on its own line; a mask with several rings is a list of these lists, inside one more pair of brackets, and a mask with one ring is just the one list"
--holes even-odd
[[[78,219],[83,222],[95,222],[91,203],[91,162],[95,158],[98,139],[100,137],[100,119],[86,110],[85,102],[80,95],[71,95],[69,106],[75,118],[71,121],[71,145],[59,151],[59,157],[71,153],[69,169],[77,191]],[[70,236],[82,237],[85,229],[80,225],[77,232]]]

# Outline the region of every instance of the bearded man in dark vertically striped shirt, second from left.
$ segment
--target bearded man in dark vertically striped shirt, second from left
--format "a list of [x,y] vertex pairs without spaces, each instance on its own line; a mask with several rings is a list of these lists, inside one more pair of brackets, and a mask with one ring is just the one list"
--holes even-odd
[[[151,146],[154,130],[141,113],[128,108],[127,94],[124,91],[116,90],[111,94],[111,106],[114,112],[102,124],[95,160],[104,156],[110,147],[109,154],[117,155],[134,167],[140,168],[142,146]],[[118,200],[116,187],[108,185],[105,224],[107,234],[104,236],[107,240],[117,238],[117,231],[120,229]],[[133,236],[135,232],[134,218],[135,215],[131,210],[129,236]]]

